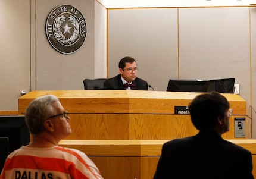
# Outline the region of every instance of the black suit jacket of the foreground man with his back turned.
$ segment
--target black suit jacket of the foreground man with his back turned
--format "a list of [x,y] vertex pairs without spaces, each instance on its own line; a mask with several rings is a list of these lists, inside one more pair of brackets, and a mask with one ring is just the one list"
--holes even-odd
[[220,134],[200,131],[164,143],[154,175],[160,178],[251,179],[251,152],[223,140]]

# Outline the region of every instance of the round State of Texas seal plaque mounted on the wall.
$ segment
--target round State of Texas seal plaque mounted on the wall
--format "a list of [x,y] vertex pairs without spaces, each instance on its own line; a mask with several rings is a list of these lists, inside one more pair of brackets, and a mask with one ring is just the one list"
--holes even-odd
[[77,8],[60,5],[49,13],[46,20],[46,36],[58,52],[76,52],[85,42],[86,33],[85,18]]

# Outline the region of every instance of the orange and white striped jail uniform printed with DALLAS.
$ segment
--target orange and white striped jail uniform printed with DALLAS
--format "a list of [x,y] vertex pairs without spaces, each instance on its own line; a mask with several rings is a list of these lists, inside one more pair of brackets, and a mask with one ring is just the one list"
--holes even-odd
[[99,169],[85,153],[60,146],[23,146],[8,155],[1,179],[102,179]]

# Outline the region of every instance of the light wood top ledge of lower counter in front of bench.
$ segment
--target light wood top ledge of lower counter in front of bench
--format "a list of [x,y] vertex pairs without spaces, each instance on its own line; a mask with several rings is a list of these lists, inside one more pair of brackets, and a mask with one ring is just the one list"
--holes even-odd
[[[59,145],[82,150],[88,156],[160,156],[169,140],[61,140]],[[256,155],[256,139],[228,140]]]

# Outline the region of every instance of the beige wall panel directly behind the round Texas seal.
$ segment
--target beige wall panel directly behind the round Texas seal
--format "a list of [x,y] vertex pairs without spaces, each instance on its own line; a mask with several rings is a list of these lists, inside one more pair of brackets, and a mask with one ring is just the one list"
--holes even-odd
[[[45,34],[49,12],[63,4],[76,7],[87,24],[83,46],[68,55],[52,48]],[[36,0],[35,11],[35,90],[83,90],[83,79],[95,75],[95,1]]]

